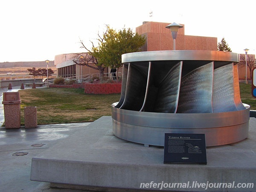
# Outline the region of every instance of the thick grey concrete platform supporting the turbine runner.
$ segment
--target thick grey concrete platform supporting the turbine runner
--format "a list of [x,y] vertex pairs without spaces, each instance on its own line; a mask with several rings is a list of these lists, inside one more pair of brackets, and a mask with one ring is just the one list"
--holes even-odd
[[[207,165],[163,164],[163,147],[144,147],[115,137],[111,116],[103,116],[33,157],[30,176],[54,187],[108,192],[160,190],[140,188],[141,183],[151,182],[183,183],[183,188],[163,191],[256,191],[255,118],[250,118],[249,126],[247,139],[208,147]],[[193,188],[193,182],[232,183],[233,188]],[[253,188],[238,188],[239,183],[253,183]]]

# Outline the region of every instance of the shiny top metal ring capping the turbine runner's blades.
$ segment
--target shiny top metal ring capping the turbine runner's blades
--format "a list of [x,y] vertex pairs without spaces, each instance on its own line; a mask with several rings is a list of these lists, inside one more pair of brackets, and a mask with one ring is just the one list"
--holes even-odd
[[122,63],[136,61],[230,61],[239,62],[239,54],[234,52],[207,50],[174,50],[131,52],[122,55]]

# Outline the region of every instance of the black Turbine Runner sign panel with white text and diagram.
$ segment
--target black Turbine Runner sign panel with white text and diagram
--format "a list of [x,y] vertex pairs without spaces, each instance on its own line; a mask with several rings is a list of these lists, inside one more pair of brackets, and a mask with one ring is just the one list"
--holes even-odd
[[163,163],[207,164],[204,134],[165,134]]

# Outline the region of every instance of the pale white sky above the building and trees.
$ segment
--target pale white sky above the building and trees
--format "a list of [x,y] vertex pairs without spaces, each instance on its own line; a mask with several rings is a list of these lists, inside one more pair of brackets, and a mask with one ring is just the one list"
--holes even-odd
[[[225,38],[232,52],[256,54],[255,0],[1,0],[0,62],[53,61],[85,52],[105,25],[180,23],[185,35]],[[152,12],[152,17],[149,17]]]

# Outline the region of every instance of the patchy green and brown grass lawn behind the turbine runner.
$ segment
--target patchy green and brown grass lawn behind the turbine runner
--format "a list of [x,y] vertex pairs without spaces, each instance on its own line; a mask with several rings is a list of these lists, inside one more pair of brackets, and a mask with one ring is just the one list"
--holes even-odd
[[[36,106],[38,124],[86,122],[111,116],[111,104],[120,94],[90,95],[84,89],[43,88],[20,90],[21,124],[24,125],[24,107]],[[251,95],[251,84],[240,83],[243,103],[256,110],[256,98]]]

